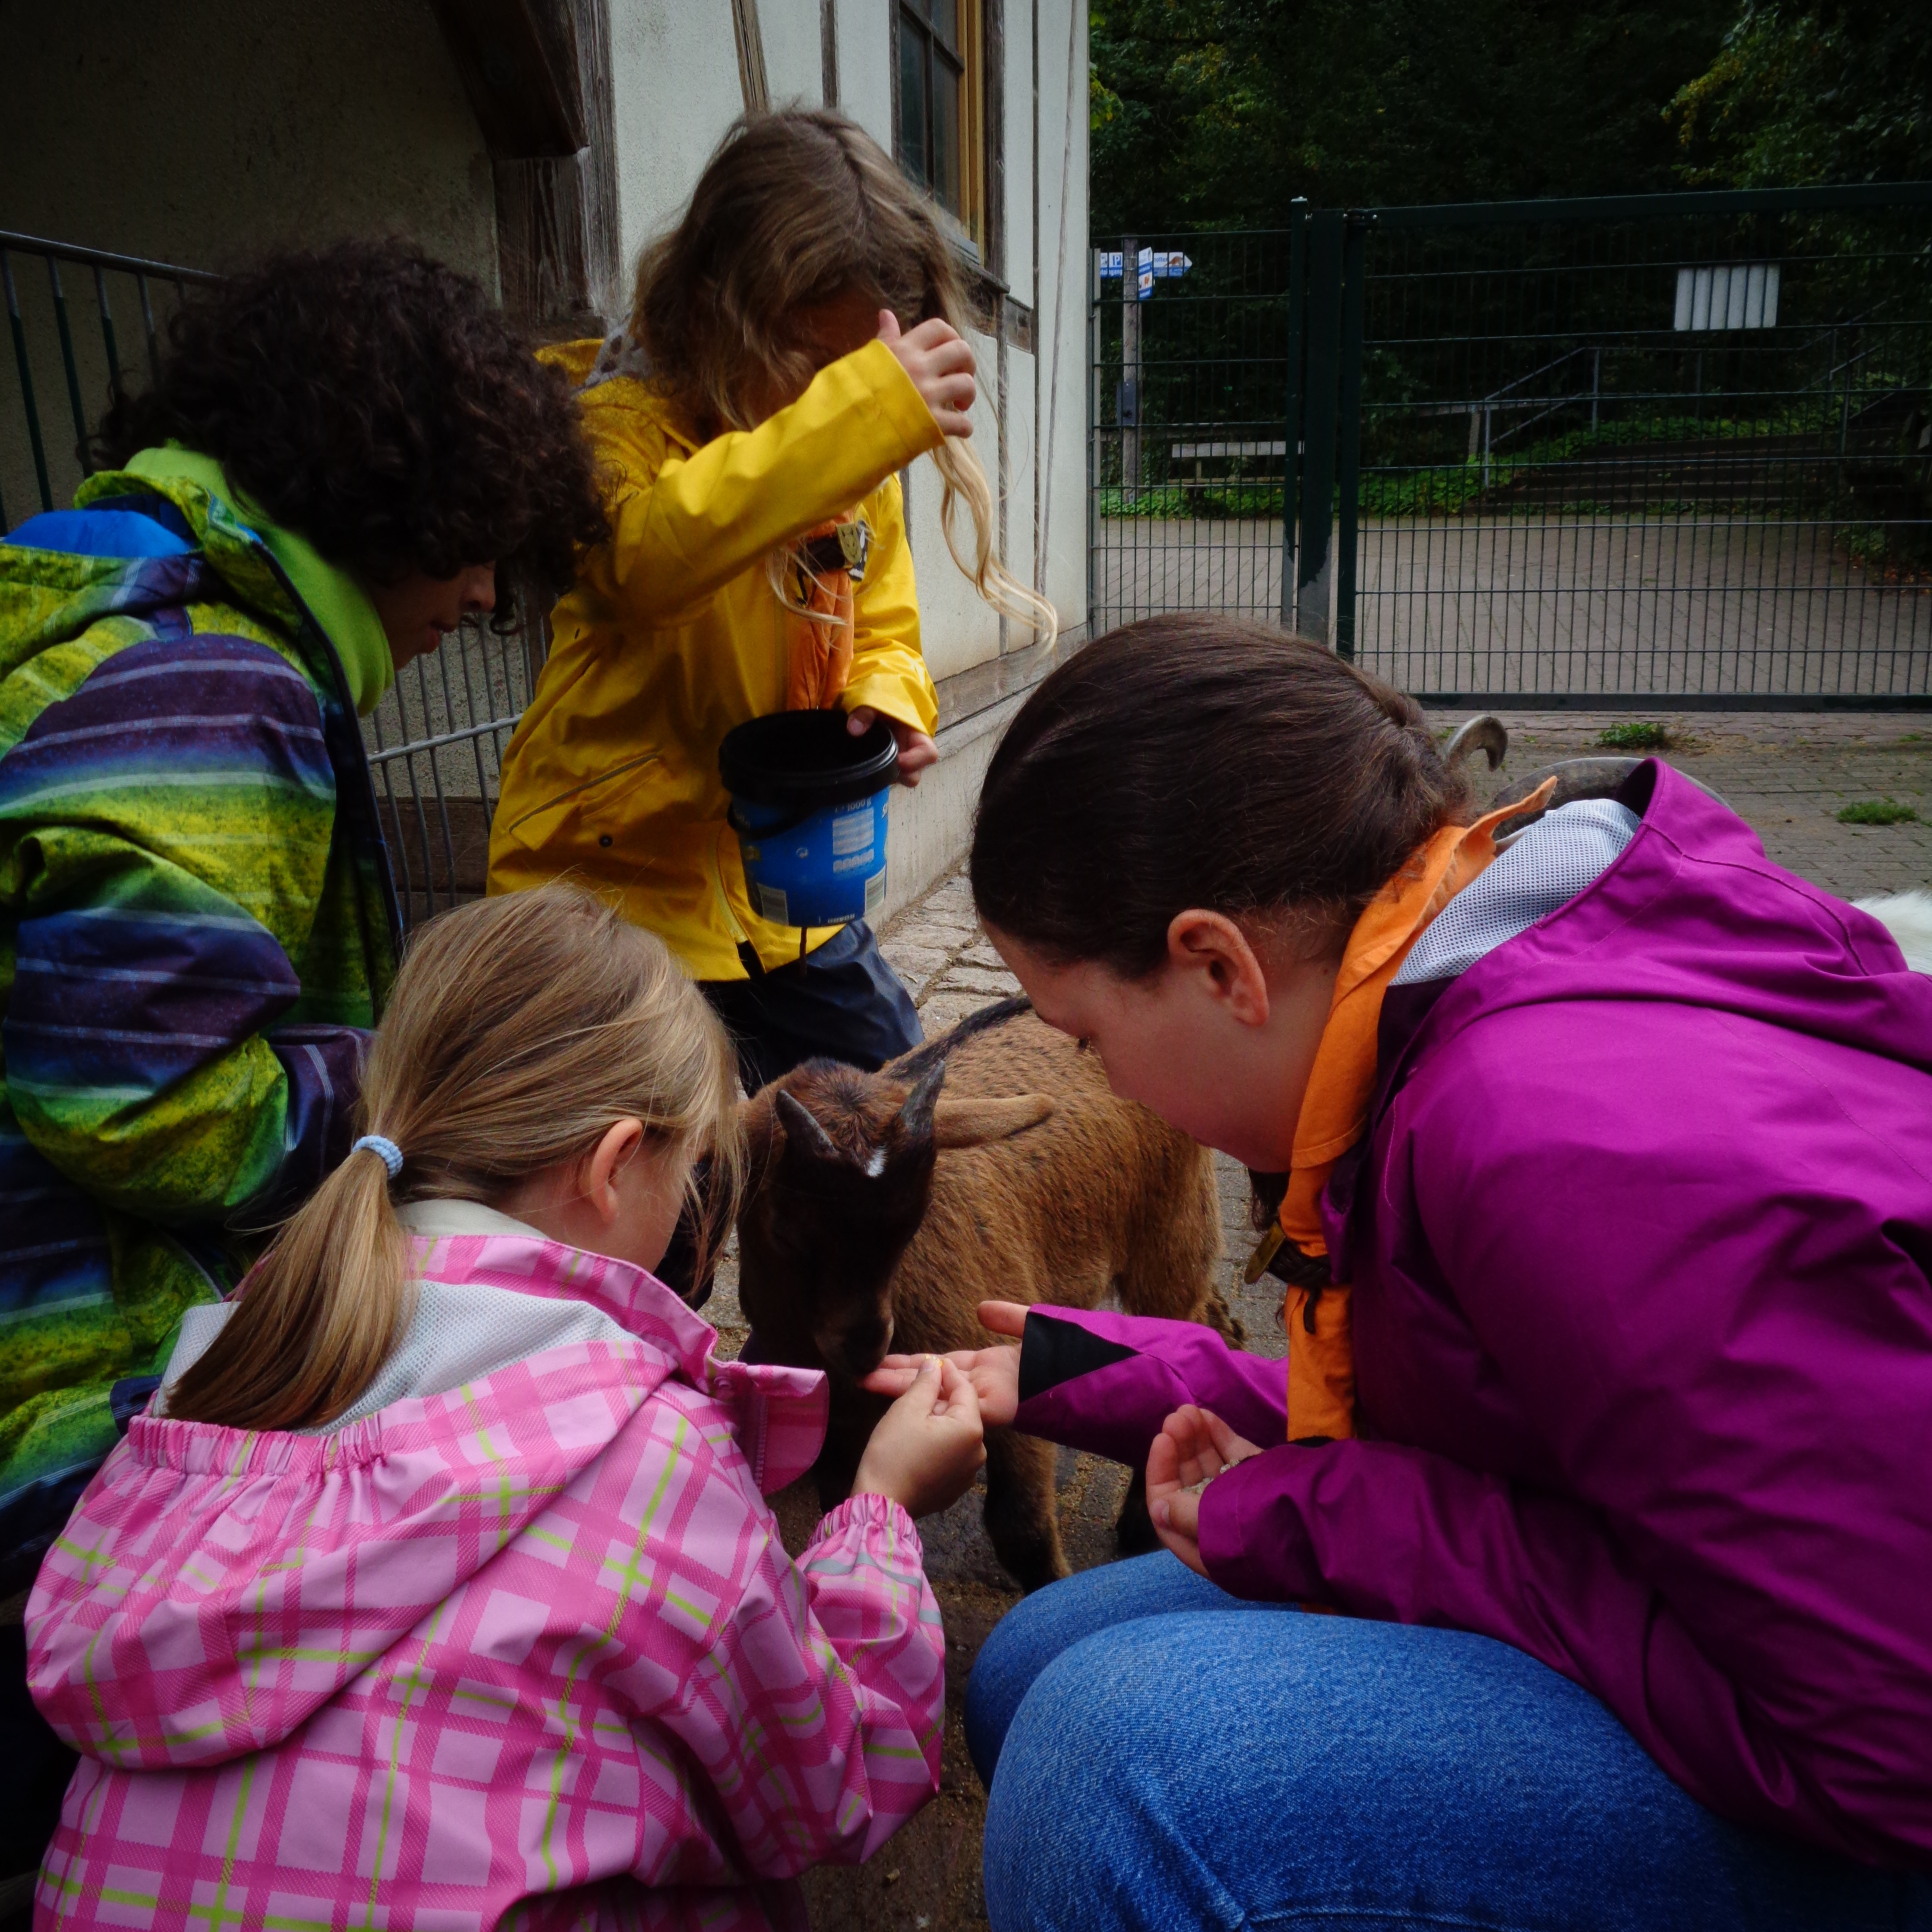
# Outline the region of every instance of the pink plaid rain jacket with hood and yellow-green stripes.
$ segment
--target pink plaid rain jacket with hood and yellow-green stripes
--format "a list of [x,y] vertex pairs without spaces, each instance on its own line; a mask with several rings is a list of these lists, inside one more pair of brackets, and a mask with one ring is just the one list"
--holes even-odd
[[719,1362],[668,1289],[508,1235],[427,1281],[587,1300],[332,1435],[137,1418],[27,1605],[81,1756],[37,1926],[804,1924],[939,1781],[945,1640],[896,1503],[798,1563],[761,1492],[825,1381]]

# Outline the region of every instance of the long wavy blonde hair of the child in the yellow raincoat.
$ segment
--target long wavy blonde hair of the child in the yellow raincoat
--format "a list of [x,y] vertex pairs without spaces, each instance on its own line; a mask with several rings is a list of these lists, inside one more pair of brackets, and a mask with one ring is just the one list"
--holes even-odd
[[[798,313],[854,290],[902,328],[933,317],[968,328],[939,216],[864,128],[821,108],[750,114],[719,143],[678,226],[643,251],[630,336],[694,429],[753,429],[767,384],[798,392],[815,373],[796,338]],[[1051,641],[1053,605],[993,553],[993,487],[970,444],[947,437],[933,468],[952,560],[995,611]],[[960,504],[972,518],[970,545],[958,531]],[[779,595],[790,603],[782,587]]]

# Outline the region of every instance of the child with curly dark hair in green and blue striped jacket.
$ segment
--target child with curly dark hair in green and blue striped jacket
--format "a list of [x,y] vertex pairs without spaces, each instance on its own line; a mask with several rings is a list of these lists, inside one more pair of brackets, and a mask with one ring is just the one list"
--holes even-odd
[[[116,1383],[160,1370],[245,1231],[348,1150],[398,952],[355,715],[495,607],[498,570],[554,595],[605,527],[564,381],[402,242],[280,255],[185,305],[99,462],[73,510],[0,543],[15,1777],[52,1748],[17,1602],[114,1445]],[[8,1810],[0,1878],[52,1826]]]

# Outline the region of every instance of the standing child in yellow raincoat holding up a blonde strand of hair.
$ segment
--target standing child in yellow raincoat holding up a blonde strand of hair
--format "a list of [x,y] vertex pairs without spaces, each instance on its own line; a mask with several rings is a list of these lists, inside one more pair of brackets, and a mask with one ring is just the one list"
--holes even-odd
[[748,1090],[920,1039],[864,922],[800,935],[753,910],[717,763],[734,724],[831,705],[854,732],[891,723],[902,784],[937,757],[898,469],[933,454],[960,568],[1051,636],[1051,607],[993,556],[991,491],[960,440],[962,323],[931,205],[858,126],[796,110],[724,137],[645,249],[620,334],[545,352],[578,384],[611,539],[553,614],[491,891],[570,873],[659,933],[738,1039]]

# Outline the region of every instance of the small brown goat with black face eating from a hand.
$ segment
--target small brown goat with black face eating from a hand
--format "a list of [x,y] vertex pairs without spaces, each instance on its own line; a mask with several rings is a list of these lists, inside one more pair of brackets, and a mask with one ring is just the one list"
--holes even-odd
[[[941,1086],[945,1092],[941,1094]],[[750,1354],[831,1372],[829,1507],[885,1401],[858,1387],[896,1352],[983,1349],[981,1300],[1208,1321],[1221,1219],[1204,1148],[1117,1099],[1097,1055],[1026,1001],[989,1007],[883,1072],[811,1061],[746,1103],[738,1298]],[[987,1435],[985,1528],[1028,1590],[1066,1575],[1055,1451]],[[1122,1542],[1151,1540],[1136,1474]]]

